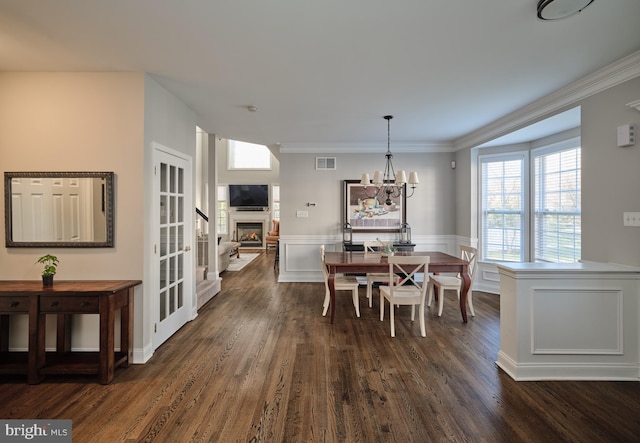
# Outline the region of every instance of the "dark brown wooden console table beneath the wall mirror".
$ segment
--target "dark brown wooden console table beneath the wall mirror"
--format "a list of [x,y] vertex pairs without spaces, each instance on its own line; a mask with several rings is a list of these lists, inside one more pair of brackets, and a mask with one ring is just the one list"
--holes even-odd
[[[97,374],[113,380],[117,367],[133,356],[133,288],[140,280],[67,280],[43,287],[41,281],[0,281],[0,374],[27,374],[39,383],[47,374]],[[115,351],[115,313],[120,310],[120,351]],[[28,314],[29,349],[9,352],[9,316]],[[46,352],[46,315],[57,316],[56,351]],[[98,352],[73,352],[71,316],[99,314]],[[26,354],[26,355],[25,355]]]

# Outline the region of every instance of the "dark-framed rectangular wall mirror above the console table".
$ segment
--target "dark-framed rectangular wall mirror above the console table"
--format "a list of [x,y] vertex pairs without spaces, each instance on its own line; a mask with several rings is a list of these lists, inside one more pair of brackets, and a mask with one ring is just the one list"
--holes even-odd
[[112,248],[113,172],[5,172],[7,247]]

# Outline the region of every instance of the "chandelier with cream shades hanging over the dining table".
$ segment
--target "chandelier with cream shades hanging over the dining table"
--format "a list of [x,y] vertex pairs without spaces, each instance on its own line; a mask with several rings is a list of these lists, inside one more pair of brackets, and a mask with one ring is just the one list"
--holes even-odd
[[[387,162],[384,166],[384,172],[376,171],[373,173],[373,181],[369,180],[369,174],[362,174],[362,178],[360,179],[360,184],[364,186],[364,192],[369,198],[378,198],[379,201],[383,201],[386,205],[391,205],[393,201],[392,198],[398,198],[402,195],[409,198],[413,195],[419,180],[418,173],[411,172],[409,173],[409,186],[411,186],[411,194],[407,195],[407,174],[404,170],[399,170],[396,174],[396,171],[393,169],[393,163],[391,159],[393,158],[393,154],[391,154],[391,137],[390,137],[390,121],[393,118],[393,115],[385,115],[384,119],[387,121],[387,153],[385,154],[385,158]],[[367,188],[370,187],[371,183],[375,186],[375,193],[369,195],[367,192]]]

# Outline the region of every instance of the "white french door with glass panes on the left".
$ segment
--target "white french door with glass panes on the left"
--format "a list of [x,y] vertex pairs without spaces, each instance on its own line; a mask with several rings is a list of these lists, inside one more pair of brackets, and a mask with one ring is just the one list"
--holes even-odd
[[154,151],[153,348],[191,319],[191,162],[164,150]]

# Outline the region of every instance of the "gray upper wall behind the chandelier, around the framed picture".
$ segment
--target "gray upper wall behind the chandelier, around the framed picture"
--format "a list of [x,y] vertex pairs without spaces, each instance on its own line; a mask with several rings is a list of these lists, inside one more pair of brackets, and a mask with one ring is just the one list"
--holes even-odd
[[[393,146],[391,147],[393,152]],[[341,235],[343,180],[359,180],[384,167],[384,153],[322,154],[336,157],[337,168],[315,169],[315,154],[281,153],[280,196],[282,235]],[[455,234],[455,177],[450,153],[393,154],[396,170],[417,171],[420,185],[407,200],[407,221],[414,235]],[[307,203],[316,203],[308,207]],[[308,218],[296,217],[308,211]],[[358,240],[357,235],[354,237]]]

